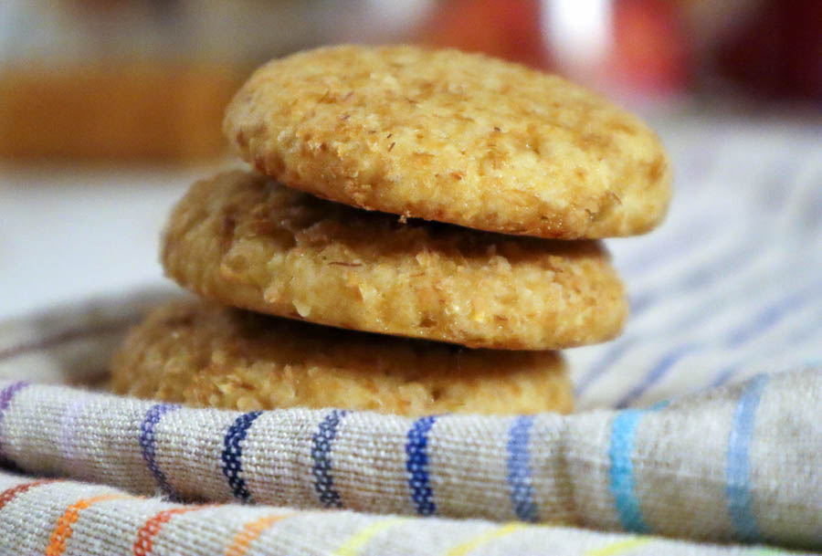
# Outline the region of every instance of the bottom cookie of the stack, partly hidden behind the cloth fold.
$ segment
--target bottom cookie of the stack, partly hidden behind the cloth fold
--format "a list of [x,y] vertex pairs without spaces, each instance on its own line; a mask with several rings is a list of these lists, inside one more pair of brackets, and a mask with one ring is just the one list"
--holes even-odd
[[555,351],[469,350],[278,319],[203,301],[154,309],[111,369],[115,393],[251,411],[570,412]]

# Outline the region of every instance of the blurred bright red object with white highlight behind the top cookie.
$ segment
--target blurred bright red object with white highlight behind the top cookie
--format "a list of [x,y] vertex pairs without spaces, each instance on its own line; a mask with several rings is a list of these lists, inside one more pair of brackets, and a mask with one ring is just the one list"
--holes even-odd
[[690,83],[690,37],[680,19],[678,5],[659,0],[444,0],[418,37],[652,97]]

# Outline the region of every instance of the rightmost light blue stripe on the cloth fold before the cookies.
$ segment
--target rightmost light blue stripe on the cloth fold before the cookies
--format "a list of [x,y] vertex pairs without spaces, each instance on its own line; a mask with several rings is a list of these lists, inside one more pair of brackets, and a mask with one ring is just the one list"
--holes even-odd
[[740,540],[759,540],[759,527],[754,515],[754,497],[751,493],[751,442],[754,436],[756,407],[768,377],[760,374],[745,386],[728,438],[728,512],[731,514],[736,536]]

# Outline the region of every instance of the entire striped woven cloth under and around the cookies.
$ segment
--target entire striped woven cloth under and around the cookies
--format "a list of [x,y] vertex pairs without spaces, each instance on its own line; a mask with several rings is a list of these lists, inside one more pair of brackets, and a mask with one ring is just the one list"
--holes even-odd
[[241,414],[72,387],[167,290],[0,324],[0,554],[822,550],[817,131],[703,135],[666,138],[668,223],[609,244],[632,316],[567,352],[578,414]]

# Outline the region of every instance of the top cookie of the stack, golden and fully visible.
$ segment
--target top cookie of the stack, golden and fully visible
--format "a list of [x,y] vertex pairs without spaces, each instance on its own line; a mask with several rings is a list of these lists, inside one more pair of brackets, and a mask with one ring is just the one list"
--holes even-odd
[[634,116],[457,50],[326,47],[259,68],[224,131],[258,170],[341,203],[551,238],[659,224],[669,163]]

